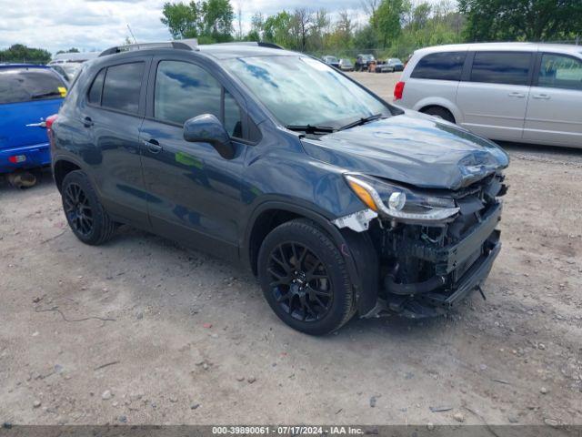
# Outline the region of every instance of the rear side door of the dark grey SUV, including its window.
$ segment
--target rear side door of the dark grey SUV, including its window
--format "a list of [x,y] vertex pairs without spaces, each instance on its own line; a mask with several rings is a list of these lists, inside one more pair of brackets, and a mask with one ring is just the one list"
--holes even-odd
[[147,227],[148,220],[139,129],[150,59],[135,56],[104,66],[92,79],[78,114],[79,128],[88,141],[77,147],[94,170],[105,208],[115,218],[141,227]]

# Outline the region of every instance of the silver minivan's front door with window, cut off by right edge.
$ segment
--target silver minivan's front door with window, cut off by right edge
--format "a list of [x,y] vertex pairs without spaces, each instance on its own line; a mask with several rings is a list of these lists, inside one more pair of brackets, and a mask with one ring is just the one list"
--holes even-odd
[[529,93],[524,138],[582,147],[582,59],[540,53]]

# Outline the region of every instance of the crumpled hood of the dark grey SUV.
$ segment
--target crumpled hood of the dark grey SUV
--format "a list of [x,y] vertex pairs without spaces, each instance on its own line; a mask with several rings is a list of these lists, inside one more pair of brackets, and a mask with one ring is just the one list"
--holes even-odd
[[495,143],[414,111],[302,142],[317,160],[419,188],[467,187],[509,164]]

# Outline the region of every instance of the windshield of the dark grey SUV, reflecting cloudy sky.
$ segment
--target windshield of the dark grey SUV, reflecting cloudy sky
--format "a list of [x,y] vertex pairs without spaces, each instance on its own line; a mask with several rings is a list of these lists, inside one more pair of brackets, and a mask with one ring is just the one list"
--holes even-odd
[[342,127],[389,108],[366,90],[306,56],[262,56],[229,59],[237,76],[284,126]]

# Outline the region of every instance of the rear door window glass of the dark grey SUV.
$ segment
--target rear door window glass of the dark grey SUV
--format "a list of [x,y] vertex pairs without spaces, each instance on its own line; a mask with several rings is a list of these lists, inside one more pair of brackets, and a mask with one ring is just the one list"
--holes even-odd
[[137,114],[143,76],[143,62],[107,67],[101,106]]

